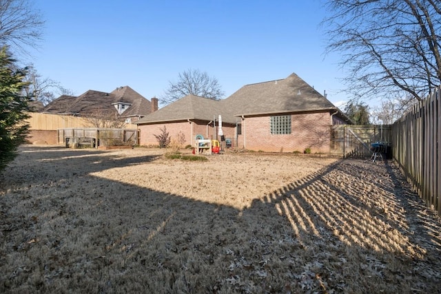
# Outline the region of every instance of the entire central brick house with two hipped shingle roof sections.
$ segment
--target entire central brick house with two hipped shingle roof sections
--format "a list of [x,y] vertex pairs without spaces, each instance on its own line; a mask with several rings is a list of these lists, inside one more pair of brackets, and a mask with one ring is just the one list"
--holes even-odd
[[136,122],[141,145],[157,145],[154,137],[166,127],[170,136],[218,138],[218,115],[223,134],[234,147],[255,151],[293,152],[310,148],[329,152],[330,126],[351,124],[338,107],[296,74],[285,79],[245,85],[220,101],[194,95],[149,114]]

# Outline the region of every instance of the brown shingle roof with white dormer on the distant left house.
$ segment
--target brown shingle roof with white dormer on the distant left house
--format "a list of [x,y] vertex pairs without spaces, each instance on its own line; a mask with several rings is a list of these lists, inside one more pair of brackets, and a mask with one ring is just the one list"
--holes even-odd
[[109,112],[116,114],[112,103],[130,103],[131,106],[121,116],[145,116],[150,113],[150,101],[132,88],[118,87],[111,93],[88,90],[80,96],[63,95],[55,99],[43,109],[51,114],[88,114],[90,112]]

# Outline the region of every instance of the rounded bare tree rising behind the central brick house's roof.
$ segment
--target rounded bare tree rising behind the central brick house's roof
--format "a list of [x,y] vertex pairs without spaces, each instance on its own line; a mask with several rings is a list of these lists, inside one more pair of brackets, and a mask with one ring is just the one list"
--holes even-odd
[[188,94],[218,100],[224,92],[217,78],[210,77],[206,72],[190,69],[180,73],[176,83],[169,82],[169,88],[165,90],[161,100],[165,104],[172,103]]

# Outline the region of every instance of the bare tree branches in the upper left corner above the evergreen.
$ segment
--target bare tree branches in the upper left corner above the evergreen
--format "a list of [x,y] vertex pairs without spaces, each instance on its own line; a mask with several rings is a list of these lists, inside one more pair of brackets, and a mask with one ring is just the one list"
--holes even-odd
[[44,21],[28,0],[0,0],[0,43],[27,52],[42,39]]

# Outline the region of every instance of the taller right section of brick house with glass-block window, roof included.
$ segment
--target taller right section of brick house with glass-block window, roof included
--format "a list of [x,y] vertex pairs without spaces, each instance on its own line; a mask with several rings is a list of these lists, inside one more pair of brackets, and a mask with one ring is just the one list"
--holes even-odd
[[223,103],[240,118],[243,147],[256,151],[328,153],[330,125],[351,123],[296,74],[245,85]]

